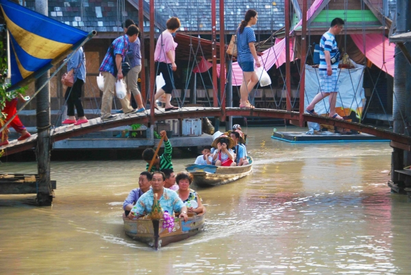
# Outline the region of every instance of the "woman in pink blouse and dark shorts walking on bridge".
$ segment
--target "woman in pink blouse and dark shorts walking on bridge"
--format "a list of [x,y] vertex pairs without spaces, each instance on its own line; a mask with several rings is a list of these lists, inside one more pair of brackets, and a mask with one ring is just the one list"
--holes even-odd
[[175,48],[177,43],[174,42],[172,34],[180,27],[180,22],[177,17],[171,17],[166,23],[167,29],[160,34],[155,45],[154,60],[157,75],[162,73],[164,82],[166,84],[155,93],[155,100],[160,98],[164,93],[166,94],[166,111],[177,110],[177,107],[171,105],[171,93],[173,92],[173,71],[177,70],[175,64]]

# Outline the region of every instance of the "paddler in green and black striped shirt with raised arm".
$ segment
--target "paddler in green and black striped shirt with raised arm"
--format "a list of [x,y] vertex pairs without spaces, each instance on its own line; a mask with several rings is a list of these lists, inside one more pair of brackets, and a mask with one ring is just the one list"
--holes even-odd
[[142,159],[147,161],[146,170],[149,172],[160,171],[162,169],[173,169],[173,163],[171,162],[171,153],[173,153],[173,147],[167,138],[166,131],[161,131],[160,136],[164,136],[164,153],[161,156],[155,156],[155,160],[151,170],[149,171],[149,166],[155,151],[152,148],[147,148],[142,152]]

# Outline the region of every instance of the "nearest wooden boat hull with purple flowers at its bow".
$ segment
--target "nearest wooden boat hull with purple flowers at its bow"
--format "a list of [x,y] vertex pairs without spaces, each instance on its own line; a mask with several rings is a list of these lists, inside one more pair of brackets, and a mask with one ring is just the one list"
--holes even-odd
[[206,208],[198,215],[188,213],[187,222],[176,217],[173,231],[169,232],[167,228],[162,228],[164,219],[129,219],[123,214],[125,234],[137,241],[147,243],[155,250],[196,235],[203,230],[205,219]]

